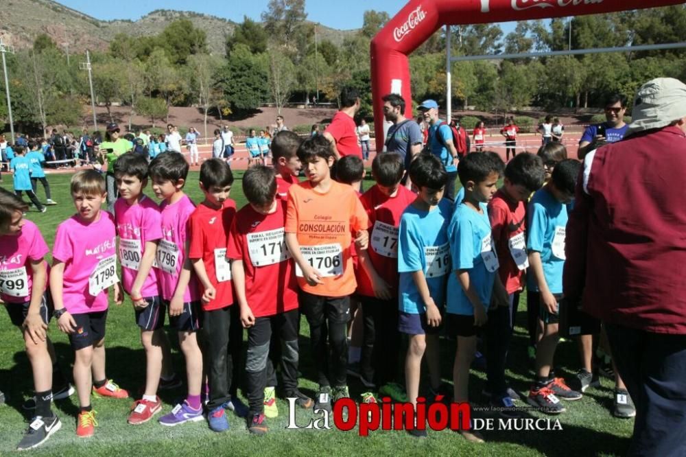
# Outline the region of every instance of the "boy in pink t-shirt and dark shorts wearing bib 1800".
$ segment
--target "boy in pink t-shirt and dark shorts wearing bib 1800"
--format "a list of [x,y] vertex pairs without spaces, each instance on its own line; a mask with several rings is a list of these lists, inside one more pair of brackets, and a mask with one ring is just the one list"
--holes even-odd
[[[115,226],[119,235],[119,263],[123,290],[131,297],[136,323],[141,329],[145,349],[145,390],[134,403],[128,423],[150,421],[162,410],[157,390],[180,386],[180,379],[169,373],[171,349],[163,327],[165,309],[157,285],[159,272],[153,268],[157,244],[162,238],[161,215],[155,202],[143,194],[147,185],[147,159],[126,152],[114,167],[119,198],[115,202]],[[166,368],[166,369],[165,369]]]

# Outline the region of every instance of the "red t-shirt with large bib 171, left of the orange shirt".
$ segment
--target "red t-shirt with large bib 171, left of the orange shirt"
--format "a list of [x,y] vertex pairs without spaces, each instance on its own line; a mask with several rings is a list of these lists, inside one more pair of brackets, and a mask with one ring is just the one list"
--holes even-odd
[[228,234],[226,255],[243,262],[246,299],[256,318],[298,307],[298,281],[286,248],[285,220],[285,200],[279,200],[276,212],[267,215],[246,204],[236,213]]

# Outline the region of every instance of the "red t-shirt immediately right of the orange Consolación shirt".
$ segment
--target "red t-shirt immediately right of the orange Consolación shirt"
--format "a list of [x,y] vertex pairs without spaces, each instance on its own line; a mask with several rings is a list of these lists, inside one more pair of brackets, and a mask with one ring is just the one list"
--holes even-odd
[[[407,205],[416,200],[416,194],[404,186],[398,187],[394,197],[388,197],[374,186],[364,193],[362,207],[369,216],[369,247],[367,253],[372,266],[398,296],[398,227]],[[357,268],[357,293],[374,296],[372,282],[362,268]]]

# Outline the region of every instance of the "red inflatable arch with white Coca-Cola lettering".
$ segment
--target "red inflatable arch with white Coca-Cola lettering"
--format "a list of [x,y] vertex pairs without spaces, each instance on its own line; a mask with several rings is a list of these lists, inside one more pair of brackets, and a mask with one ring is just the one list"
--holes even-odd
[[443,25],[525,21],[676,5],[681,0],[411,0],[372,39],[371,70],[377,151],[383,148],[383,102],[399,93],[412,117],[407,56]]

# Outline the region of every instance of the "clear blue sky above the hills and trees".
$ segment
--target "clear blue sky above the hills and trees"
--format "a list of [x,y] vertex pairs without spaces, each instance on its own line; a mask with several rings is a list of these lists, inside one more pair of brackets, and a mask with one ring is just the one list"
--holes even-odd
[[[131,19],[135,21],[154,10],[182,10],[212,14],[231,21],[241,22],[243,16],[259,21],[260,14],[267,9],[268,0],[204,0],[196,3],[188,0],[60,0],[69,8],[88,14],[95,19]],[[306,0],[307,19],[335,29],[347,30],[362,27],[365,10],[386,11],[392,17],[405,5],[403,0]],[[506,23],[506,33],[514,29],[513,23]]]

